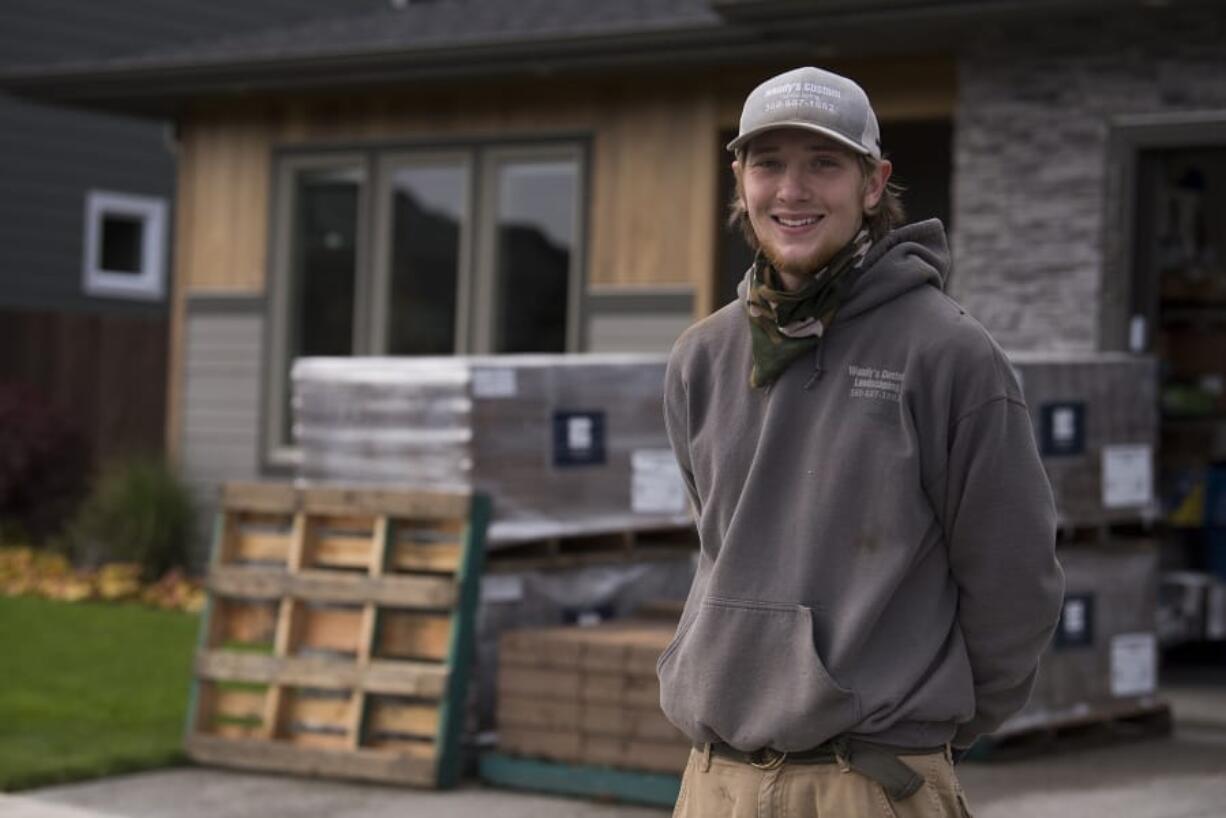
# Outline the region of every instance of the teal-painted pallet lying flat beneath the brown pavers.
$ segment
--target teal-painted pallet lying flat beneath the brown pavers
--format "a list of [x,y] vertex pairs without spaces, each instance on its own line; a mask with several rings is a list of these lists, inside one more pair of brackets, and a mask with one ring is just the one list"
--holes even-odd
[[682,786],[679,775],[546,762],[505,753],[482,753],[478,769],[485,782],[512,790],[661,807],[672,807]]

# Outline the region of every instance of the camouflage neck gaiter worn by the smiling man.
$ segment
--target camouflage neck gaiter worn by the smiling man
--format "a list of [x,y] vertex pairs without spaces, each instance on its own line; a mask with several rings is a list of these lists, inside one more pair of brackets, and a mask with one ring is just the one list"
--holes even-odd
[[788,364],[818,346],[835,314],[856,283],[859,264],[873,240],[862,229],[801,289],[788,292],[779,273],[759,251],[745,272],[745,314],[753,336],[754,389],[775,381]]

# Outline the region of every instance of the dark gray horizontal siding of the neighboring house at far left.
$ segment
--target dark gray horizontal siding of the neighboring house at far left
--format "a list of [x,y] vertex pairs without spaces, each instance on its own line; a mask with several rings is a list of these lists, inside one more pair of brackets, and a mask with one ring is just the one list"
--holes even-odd
[[[115,56],[385,6],[383,0],[5,0],[0,64]],[[174,156],[164,134],[164,123],[0,98],[0,307],[166,314],[166,300],[94,298],[81,285],[86,193],[172,201]]]

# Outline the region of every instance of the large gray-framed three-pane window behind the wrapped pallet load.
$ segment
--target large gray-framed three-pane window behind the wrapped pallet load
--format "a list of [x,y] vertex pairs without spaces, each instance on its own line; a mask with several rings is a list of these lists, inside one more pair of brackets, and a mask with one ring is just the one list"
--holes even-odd
[[291,152],[277,162],[267,453],[302,356],[580,348],[584,148]]

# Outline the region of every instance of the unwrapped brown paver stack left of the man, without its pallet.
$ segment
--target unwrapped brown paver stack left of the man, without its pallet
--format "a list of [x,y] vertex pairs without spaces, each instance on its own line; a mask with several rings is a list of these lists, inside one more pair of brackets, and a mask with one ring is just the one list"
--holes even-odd
[[660,711],[656,660],[674,622],[510,630],[499,644],[504,753],[679,773],[689,741]]

